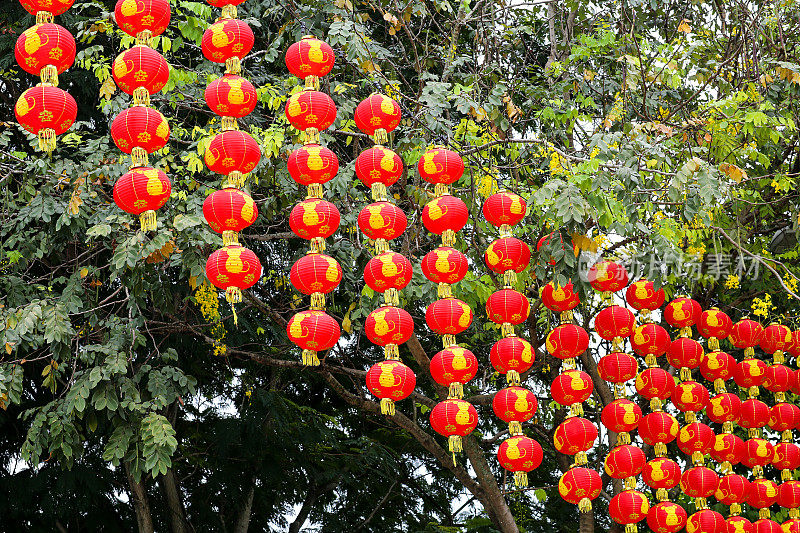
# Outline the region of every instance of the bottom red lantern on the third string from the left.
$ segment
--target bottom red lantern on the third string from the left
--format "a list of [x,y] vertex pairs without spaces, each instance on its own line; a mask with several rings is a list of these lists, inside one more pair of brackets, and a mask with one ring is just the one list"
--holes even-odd
[[206,261],[206,276],[229,301],[241,301],[241,290],[249,289],[261,277],[261,262],[252,251],[239,245],[223,246]]

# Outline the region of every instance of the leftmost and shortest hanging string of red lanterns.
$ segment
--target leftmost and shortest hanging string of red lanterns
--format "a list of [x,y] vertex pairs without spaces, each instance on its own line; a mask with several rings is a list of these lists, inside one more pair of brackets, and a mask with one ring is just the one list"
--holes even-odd
[[53,22],[75,0],[20,0],[22,7],[36,17],[36,24],[19,36],[14,47],[17,64],[40,83],[20,95],[14,114],[20,126],[39,138],[39,149],[52,152],[56,137],[75,123],[78,105],[58,87],[58,75],[75,62],[75,38]]

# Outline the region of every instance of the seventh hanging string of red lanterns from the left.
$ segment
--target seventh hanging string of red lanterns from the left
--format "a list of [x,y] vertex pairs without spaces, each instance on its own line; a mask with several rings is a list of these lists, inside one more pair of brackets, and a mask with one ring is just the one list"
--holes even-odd
[[492,346],[490,359],[510,385],[498,392],[493,401],[495,413],[509,423],[509,437],[500,444],[497,459],[503,468],[514,473],[517,487],[528,485],[528,472],[538,468],[544,457],[541,445],[522,431],[522,422],[532,418],[538,407],[533,394],[521,386],[520,377],[533,365],[535,352],[514,330],[530,313],[528,298],[512,288],[517,272],[524,270],[530,261],[528,246],[514,239],[511,231],[525,217],[526,209],[522,197],[505,191],[489,196],[483,204],[484,218],[500,229],[500,238],[489,245],[484,260],[491,270],[503,275],[503,288],[486,301],[489,320],[500,326],[502,335]]

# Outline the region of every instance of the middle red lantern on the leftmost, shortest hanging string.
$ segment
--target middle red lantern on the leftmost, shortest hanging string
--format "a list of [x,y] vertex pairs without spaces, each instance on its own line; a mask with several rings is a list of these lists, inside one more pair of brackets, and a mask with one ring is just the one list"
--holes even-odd
[[75,37],[58,24],[37,24],[19,36],[14,56],[22,70],[34,76],[48,65],[61,74],[75,62]]

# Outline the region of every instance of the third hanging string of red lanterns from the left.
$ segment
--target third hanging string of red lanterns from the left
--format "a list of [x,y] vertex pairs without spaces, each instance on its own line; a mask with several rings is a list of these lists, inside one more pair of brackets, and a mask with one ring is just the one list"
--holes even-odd
[[225,179],[222,189],[203,202],[206,222],[222,234],[222,248],[206,261],[206,276],[215,287],[225,291],[236,323],[235,304],[242,301],[242,291],[261,277],[258,257],[239,244],[239,232],[258,217],[253,198],[241,189],[248,173],[261,159],[261,149],[250,135],[239,130],[238,123],[239,118],[252,113],[256,106],[255,87],[240,76],[241,60],[253,48],[255,37],[250,26],[236,19],[236,6],[244,0],[207,1],[222,8],[222,13],[203,34],[201,48],[206,59],[225,64],[225,73],[205,90],[206,105],[221,117],[221,131],[206,148],[204,160],[209,170]]

